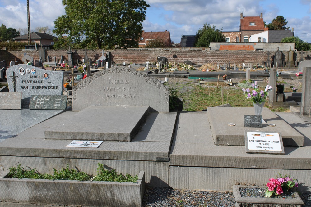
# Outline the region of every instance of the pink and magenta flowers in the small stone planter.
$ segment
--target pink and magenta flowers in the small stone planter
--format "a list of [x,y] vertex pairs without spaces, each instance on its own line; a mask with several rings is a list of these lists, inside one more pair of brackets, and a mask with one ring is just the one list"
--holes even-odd
[[296,179],[291,179],[290,176],[281,176],[279,173],[279,178],[270,178],[267,182],[267,190],[265,192],[265,197],[271,197],[273,194],[275,196],[281,195],[282,193],[287,193],[292,188],[297,188],[298,183]]

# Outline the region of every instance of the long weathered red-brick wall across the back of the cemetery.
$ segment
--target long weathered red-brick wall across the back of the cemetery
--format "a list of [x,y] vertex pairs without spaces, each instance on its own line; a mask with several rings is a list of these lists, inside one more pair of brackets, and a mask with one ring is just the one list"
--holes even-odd
[[[85,55],[84,50],[72,50],[72,59],[76,62],[77,59],[80,61]],[[281,50],[282,51],[282,50]],[[87,55],[92,60],[97,60],[101,56],[101,50],[88,50]],[[190,60],[196,64],[206,64],[206,63],[217,63],[220,64],[235,62],[237,65],[242,63],[253,63],[260,65],[262,61],[267,60],[267,52],[265,51],[218,51],[209,50],[209,48],[134,48],[127,50],[110,50],[112,54],[112,61],[115,63],[145,63],[146,61],[155,62],[157,56],[167,57],[169,62],[182,63],[185,60]],[[271,56],[276,51],[271,51]],[[21,59],[24,53],[29,54],[35,59],[39,59],[39,52],[32,50],[0,50],[0,59],[7,62],[7,66],[10,61],[18,61],[17,63],[22,63]],[[288,60],[288,53],[283,51],[285,55],[285,61]],[[68,58],[66,50],[47,50],[45,52],[45,57],[49,55],[51,59],[56,56],[56,59],[61,59],[63,55],[66,59]],[[177,56],[173,58],[173,55]],[[294,60],[299,60],[301,53],[299,51],[294,53]],[[311,51],[304,52],[303,59],[311,59]],[[51,60],[50,60],[51,61]]]

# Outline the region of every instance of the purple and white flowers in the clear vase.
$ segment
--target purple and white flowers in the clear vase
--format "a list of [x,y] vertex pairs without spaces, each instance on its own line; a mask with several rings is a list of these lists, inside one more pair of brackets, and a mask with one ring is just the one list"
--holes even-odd
[[253,103],[262,103],[265,101],[268,91],[271,91],[272,86],[267,85],[265,90],[259,90],[258,86],[257,86],[257,81],[255,81],[252,84],[252,87],[254,88],[254,90],[252,90],[252,94],[249,88],[245,89],[243,88],[242,91],[245,94],[245,97],[247,99],[250,99]]

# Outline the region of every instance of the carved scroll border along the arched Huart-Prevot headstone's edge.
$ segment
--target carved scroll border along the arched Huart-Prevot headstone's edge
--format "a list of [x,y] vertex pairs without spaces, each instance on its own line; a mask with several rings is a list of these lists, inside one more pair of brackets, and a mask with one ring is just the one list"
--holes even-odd
[[[72,87],[72,104],[77,100],[77,90],[85,88],[86,86],[90,85],[95,79],[111,74],[111,73],[128,73],[136,75],[142,79],[144,79],[147,83],[152,85],[153,87],[164,91],[164,100],[166,103],[169,103],[169,87],[163,85],[159,80],[149,77],[148,74],[141,71],[134,71],[132,68],[124,67],[124,66],[115,66],[106,70],[102,70],[97,73],[92,73],[91,76],[86,77],[82,81],[80,81],[76,86]],[[168,106],[167,106],[168,107]],[[168,112],[168,111],[159,111],[159,112]]]

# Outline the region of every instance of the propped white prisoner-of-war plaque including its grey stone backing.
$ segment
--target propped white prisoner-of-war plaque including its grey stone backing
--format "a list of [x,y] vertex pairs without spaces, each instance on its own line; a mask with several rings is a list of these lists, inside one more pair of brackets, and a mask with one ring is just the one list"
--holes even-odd
[[245,131],[245,147],[246,153],[284,155],[280,132]]

